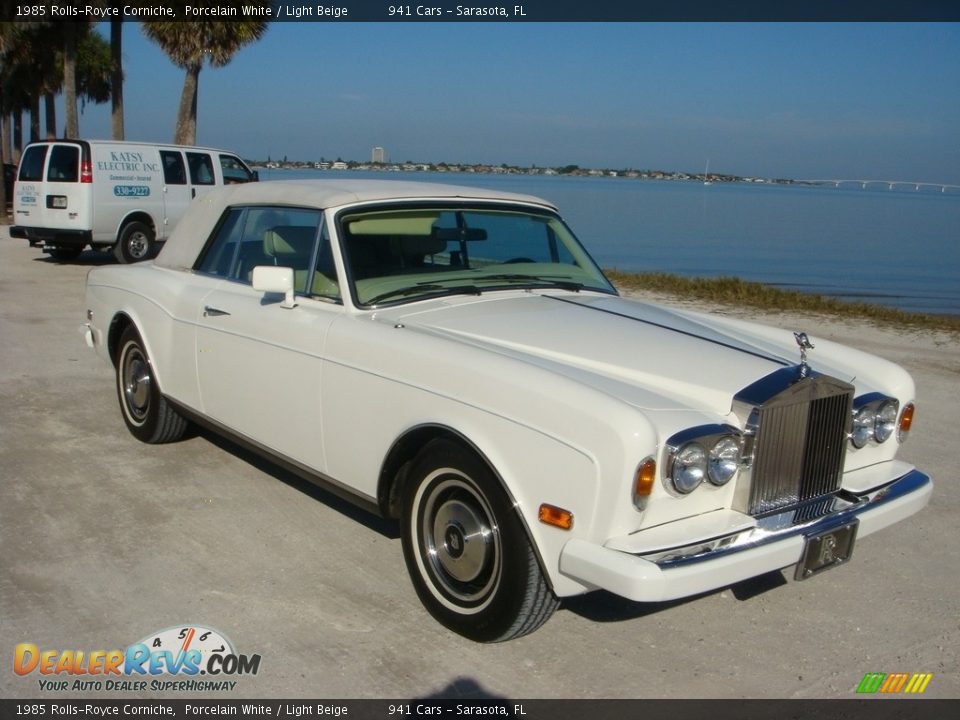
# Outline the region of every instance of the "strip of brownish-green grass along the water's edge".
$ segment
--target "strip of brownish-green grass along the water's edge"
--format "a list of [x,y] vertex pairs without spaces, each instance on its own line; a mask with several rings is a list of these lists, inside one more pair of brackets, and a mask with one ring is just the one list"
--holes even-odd
[[784,290],[737,277],[688,278],[670,273],[629,273],[605,268],[610,282],[623,292],[652,293],[674,300],[754,308],[764,312],[797,312],[847,320],[868,320],[913,330],[960,333],[960,316],[912,313],[884,305]]

